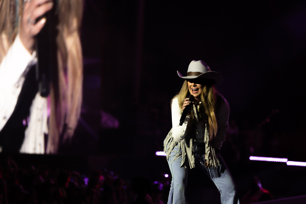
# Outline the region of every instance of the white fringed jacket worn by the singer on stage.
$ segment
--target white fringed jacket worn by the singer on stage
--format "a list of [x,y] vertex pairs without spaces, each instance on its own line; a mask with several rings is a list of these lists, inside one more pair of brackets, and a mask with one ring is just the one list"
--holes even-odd
[[[218,94],[216,98],[217,98],[216,119],[217,119],[218,130],[216,137],[214,139],[214,147],[212,147],[210,145],[211,143],[208,142],[209,141],[208,124],[205,124],[205,121],[203,122],[203,120],[199,121],[197,115],[195,114],[197,138],[204,137],[204,142],[206,144],[205,145],[206,159],[213,165],[213,167],[218,167],[220,165],[218,158],[216,157],[215,154],[215,149],[220,149],[222,147],[222,143],[226,139],[226,132],[228,129],[228,118],[230,115],[230,106],[226,101],[226,99],[220,94]],[[193,112],[196,113],[195,105],[193,105]],[[179,107],[177,98],[174,98],[172,101],[171,113],[172,113],[172,128],[164,141],[164,152],[166,152],[167,161],[169,160],[169,156],[173,148],[175,146],[178,146],[179,151],[176,153],[171,163],[175,159],[182,157],[181,161],[181,167],[182,167],[184,165],[187,154],[189,166],[192,169],[195,167],[194,152],[193,152],[194,139],[191,138],[190,141],[186,141],[185,139],[185,136],[187,135],[186,128],[188,125],[189,117],[186,117],[186,120],[182,126],[179,125],[182,115],[182,109],[181,107]],[[180,150],[182,151],[182,154],[179,153]]]

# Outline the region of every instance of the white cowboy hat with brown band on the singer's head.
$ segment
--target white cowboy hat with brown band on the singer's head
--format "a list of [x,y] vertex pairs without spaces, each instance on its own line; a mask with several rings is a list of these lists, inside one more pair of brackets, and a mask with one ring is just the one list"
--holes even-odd
[[214,81],[215,85],[219,85],[223,81],[223,76],[218,72],[213,72],[210,70],[209,66],[205,62],[199,60],[193,60],[190,62],[187,70],[187,76],[183,76],[179,71],[177,71],[179,77],[183,79],[196,79],[205,78]]

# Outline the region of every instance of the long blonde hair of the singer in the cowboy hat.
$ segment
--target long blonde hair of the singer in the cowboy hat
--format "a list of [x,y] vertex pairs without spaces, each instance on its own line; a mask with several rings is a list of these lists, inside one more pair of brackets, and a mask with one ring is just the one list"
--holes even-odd
[[[201,94],[201,102],[202,106],[200,107],[200,111],[203,112],[203,115],[208,116],[208,126],[209,126],[209,139],[212,141],[214,137],[217,134],[217,119],[216,119],[216,94],[218,94],[218,91],[215,89],[215,86],[208,81],[205,81],[203,79],[203,85],[204,89]],[[171,104],[174,98],[178,99],[179,107],[183,106],[184,99],[190,94],[189,89],[188,89],[188,81],[185,80],[182,87],[181,91],[175,95],[172,100]],[[191,109],[190,109],[191,110]],[[188,127],[187,131],[194,132],[194,114],[193,111],[190,111],[190,119],[188,121]]]

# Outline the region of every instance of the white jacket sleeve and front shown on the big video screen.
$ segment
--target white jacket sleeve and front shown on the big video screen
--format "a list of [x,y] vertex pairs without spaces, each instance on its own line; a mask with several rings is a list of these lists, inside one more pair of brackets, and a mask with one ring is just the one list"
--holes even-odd
[[[31,55],[17,35],[0,64],[0,131],[15,109],[25,76],[36,62],[35,52]],[[45,153],[44,134],[48,134],[47,109],[47,98],[37,93],[30,107],[21,153]]]

